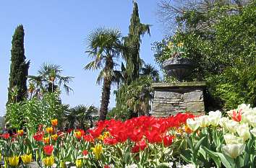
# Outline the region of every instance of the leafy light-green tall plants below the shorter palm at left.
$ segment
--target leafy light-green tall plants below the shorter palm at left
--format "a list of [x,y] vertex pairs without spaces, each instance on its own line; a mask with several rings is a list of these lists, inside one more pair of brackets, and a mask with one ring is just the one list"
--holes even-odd
[[36,131],[39,124],[50,124],[51,119],[61,121],[63,111],[59,92],[46,93],[41,99],[33,97],[31,100],[9,103],[6,121],[10,128],[20,129],[24,125]]

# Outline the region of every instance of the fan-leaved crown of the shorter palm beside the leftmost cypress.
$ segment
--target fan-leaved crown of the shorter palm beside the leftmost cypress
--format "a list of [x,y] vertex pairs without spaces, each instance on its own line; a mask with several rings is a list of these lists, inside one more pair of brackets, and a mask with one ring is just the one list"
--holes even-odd
[[33,92],[35,94],[39,94],[39,92],[55,92],[58,87],[63,87],[65,92],[69,94],[73,89],[68,84],[74,77],[62,76],[62,71],[61,66],[43,63],[38,71],[38,76],[28,76],[30,81],[29,92],[31,94]]

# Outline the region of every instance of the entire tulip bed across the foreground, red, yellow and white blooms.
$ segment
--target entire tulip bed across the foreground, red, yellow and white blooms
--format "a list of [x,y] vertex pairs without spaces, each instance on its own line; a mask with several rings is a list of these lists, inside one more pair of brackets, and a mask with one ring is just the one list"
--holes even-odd
[[105,120],[87,131],[57,125],[2,134],[5,167],[255,167],[256,108],[249,105],[202,116]]

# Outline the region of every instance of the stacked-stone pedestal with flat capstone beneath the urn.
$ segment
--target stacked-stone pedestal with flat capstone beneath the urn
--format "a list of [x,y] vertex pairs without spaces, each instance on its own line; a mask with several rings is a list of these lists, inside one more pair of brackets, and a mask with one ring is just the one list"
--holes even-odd
[[155,83],[150,114],[155,117],[167,117],[184,111],[203,113],[205,87],[205,81]]

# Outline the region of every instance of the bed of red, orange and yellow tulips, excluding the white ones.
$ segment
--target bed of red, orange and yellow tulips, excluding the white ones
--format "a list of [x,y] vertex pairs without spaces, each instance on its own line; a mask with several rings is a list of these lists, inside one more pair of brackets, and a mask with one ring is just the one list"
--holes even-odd
[[4,133],[1,150],[5,167],[168,167],[174,159],[174,143],[178,144],[188,118],[184,113],[169,118],[142,116],[121,122],[100,121],[97,127],[59,131],[57,120],[40,125],[36,133],[17,131]]

